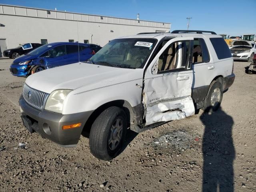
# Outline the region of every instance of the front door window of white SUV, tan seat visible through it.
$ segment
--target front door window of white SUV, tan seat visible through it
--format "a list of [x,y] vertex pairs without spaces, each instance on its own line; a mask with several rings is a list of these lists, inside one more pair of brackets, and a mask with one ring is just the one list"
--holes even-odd
[[158,58],[158,72],[186,68],[189,42],[170,44]]

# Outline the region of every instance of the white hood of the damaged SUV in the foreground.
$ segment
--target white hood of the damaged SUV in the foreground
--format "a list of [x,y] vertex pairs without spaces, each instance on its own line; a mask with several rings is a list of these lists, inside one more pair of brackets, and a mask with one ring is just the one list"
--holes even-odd
[[80,62],[32,74],[26,79],[26,84],[49,94],[57,89],[77,89],[78,93],[142,77],[143,69],[116,68]]

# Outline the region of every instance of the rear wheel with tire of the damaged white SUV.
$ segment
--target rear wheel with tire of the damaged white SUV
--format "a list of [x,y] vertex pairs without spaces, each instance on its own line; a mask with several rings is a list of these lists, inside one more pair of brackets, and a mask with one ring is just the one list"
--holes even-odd
[[213,81],[204,100],[204,111],[212,112],[218,110],[222,102],[222,96],[222,84],[219,81]]

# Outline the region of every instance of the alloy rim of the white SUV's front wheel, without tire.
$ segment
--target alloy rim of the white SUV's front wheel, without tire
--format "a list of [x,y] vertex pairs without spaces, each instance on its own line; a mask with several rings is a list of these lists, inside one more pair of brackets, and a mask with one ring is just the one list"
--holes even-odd
[[110,133],[108,135],[108,146],[110,150],[115,150],[121,141],[123,132],[123,122],[120,118],[116,119],[113,123]]

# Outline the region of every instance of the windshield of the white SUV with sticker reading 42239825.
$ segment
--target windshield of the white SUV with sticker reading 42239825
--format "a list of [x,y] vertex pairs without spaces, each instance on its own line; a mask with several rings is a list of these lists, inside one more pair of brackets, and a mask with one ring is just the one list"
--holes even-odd
[[156,45],[156,41],[156,39],[152,38],[112,40],[89,61],[93,64],[119,68],[143,68]]

